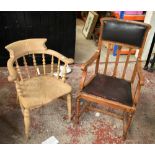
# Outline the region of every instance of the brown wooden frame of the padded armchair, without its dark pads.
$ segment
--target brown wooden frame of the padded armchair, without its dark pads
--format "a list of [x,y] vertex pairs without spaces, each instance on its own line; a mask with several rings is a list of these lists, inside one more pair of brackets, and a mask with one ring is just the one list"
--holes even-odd
[[[117,20],[117,21],[120,21],[120,22],[124,22],[124,20],[113,19],[113,18],[102,18],[102,21],[104,21],[104,20]],[[81,66],[82,78],[81,78],[81,81],[80,81],[80,92],[79,92],[77,100],[76,100],[77,101],[77,107],[76,107],[76,118],[77,118],[76,120],[77,120],[77,123],[79,123],[79,118],[80,118],[81,114],[83,112],[87,112],[87,111],[97,111],[97,112],[100,112],[100,113],[105,113],[105,114],[108,114],[108,115],[112,115],[112,116],[114,116],[114,117],[116,117],[118,119],[123,120],[123,137],[124,137],[124,139],[126,139],[127,131],[128,131],[128,129],[130,127],[132,117],[133,117],[133,115],[134,115],[134,113],[136,111],[136,105],[137,105],[138,99],[140,97],[141,87],[144,85],[144,77],[143,77],[142,68],[141,68],[141,56],[142,56],[142,52],[143,52],[143,49],[144,49],[144,45],[145,45],[145,41],[146,41],[148,31],[151,28],[151,26],[149,24],[139,23],[139,22],[135,22],[135,21],[127,21],[127,22],[134,23],[134,24],[136,24],[136,23],[137,24],[142,24],[142,25],[145,25],[147,27],[145,35],[144,35],[144,39],[143,39],[143,42],[142,42],[142,46],[139,48],[139,47],[131,46],[131,45],[124,44],[124,43],[118,43],[118,42],[102,40],[102,30],[103,30],[104,25],[103,25],[103,22],[101,22],[102,24],[101,24],[101,29],[100,29],[98,50],[95,52],[95,54],[85,64],[82,64],[82,66]],[[117,44],[119,47],[126,46],[126,47],[129,48],[129,53],[127,55],[127,59],[126,59],[126,62],[125,62],[125,67],[123,69],[122,79],[124,79],[124,77],[125,77],[126,68],[127,68],[128,63],[129,63],[129,57],[130,57],[132,48],[139,49],[137,61],[136,61],[136,64],[135,64],[135,67],[134,67],[134,70],[133,70],[132,78],[130,80],[131,86],[132,86],[133,83],[134,83],[136,74],[138,75],[139,80],[138,80],[138,84],[137,84],[137,87],[136,87],[136,91],[133,92],[133,90],[132,90],[132,99],[133,99],[133,106],[132,107],[127,106],[127,105],[123,105],[123,104],[121,104],[119,102],[116,102],[116,101],[112,101],[112,100],[108,100],[108,99],[101,98],[101,97],[98,97],[98,96],[94,96],[94,95],[91,95],[91,94],[87,94],[87,93],[82,91],[83,88],[85,86],[87,86],[94,79],[94,77],[98,74],[100,53],[101,53],[101,48],[102,48],[102,42],[103,41],[108,43],[108,51],[107,51],[107,56],[106,56],[104,74],[106,74],[106,70],[107,70],[109,54],[110,54],[110,51],[111,51],[111,45]],[[116,73],[117,73],[117,66],[118,66],[118,63],[119,63],[119,56],[120,56],[120,53],[117,52],[113,76],[116,76]],[[95,61],[96,61],[95,74],[92,75],[89,78],[89,80],[86,82],[87,68],[90,65],[92,65]],[[111,112],[108,112],[108,111],[105,111],[105,110],[100,110],[100,109],[94,108],[94,107],[90,106],[89,103],[86,104],[85,106],[83,106],[83,108],[81,108],[80,107],[80,99],[84,99],[84,100],[87,100],[87,101],[90,101],[90,102],[95,102],[97,104],[108,106],[110,108],[114,108],[114,109],[117,109],[117,110],[122,110],[123,115],[117,115],[115,113],[111,113]]]

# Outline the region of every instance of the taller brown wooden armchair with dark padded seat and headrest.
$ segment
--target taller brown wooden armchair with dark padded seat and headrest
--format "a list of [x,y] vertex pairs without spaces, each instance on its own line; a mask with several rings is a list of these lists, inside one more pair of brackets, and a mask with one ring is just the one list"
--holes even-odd
[[[136,111],[141,86],[144,85],[144,78],[141,72],[141,55],[150,25],[113,18],[103,18],[101,23],[98,50],[90,60],[81,66],[83,73],[80,82],[80,92],[77,97],[77,122],[79,122],[81,114],[86,111],[98,111],[110,114],[123,120],[123,137],[126,138],[127,130],[130,126],[133,114]],[[105,43],[108,45],[108,48],[104,71],[103,74],[101,74],[99,73],[100,53],[102,45]],[[110,53],[113,52],[114,45],[118,45],[118,50],[113,73],[109,76],[108,62]],[[122,47],[128,48],[129,52],[123,64],[122,73],[118,75],[118,65]],[[127,80],[128,77],[125,77],[125,75],[129,67],[128,64],[130,62],[132,49],[137,49],[139,52],[135,65],[132,67],[132,72],[129,70],[130,73],[128,76],[132,76],[130,80]],[[88,78],[87,69],[94,62],[95,73]],[[88,80],[86,80],[86,77]],[[137,83],[135,83],[136,81]],[[134,87],[135,85],[136,87]],[[81,99],[89,102],[83,107],[80,107]],[[104,106],[104,109],[106,109],[106,107],[113,109],[113,111],[110,112],[109,110],[102,110],[96,106],[92,106],[91,102]],[[121,111],[121,114],[116,114],[117,110]]]

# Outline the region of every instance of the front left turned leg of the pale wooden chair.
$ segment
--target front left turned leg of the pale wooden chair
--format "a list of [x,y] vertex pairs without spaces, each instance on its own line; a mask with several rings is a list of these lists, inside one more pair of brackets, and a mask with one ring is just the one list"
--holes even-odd
[[25,137],[26,141],[29,138],[29,128],[30,128],[30,112],[29,109],[24,110],[24,124],[25,124]]

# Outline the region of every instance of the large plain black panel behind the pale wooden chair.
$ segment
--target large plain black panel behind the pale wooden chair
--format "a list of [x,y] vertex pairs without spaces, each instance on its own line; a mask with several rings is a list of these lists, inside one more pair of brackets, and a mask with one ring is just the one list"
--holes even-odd
[[[50,49],[74,58],[74,11],[1,11],[0,23],[0,66],[6,66],[9,59],[5,45],[27,38],[47,38],[46,45]],[[46,59],[50,62],[50,57]],[[41,59],[38,58],[38,63],[41,64],[39,60]]]

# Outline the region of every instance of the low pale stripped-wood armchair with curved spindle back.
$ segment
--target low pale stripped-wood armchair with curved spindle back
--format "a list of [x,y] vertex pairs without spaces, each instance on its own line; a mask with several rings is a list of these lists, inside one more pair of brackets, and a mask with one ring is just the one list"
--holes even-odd
[[[68,59],[60,53],[47,49],[45,42],[47,39],[26,39],[7,45],[5,48],[10,53],[7,62],[9,71],[8,80],[15,82],[17,98],[21,106],[25,123],[26,139],[29,137],[30,110],[50,103],[56,98],[67,95],[68,118],[71,119],[71,91],[69,84],[65,83],[66,66],[73,63],[73,59]],[[38,56],[41,56],[42,65],[37,65]],[[51,64],[46,66],[46,56],[51,58]],[[29,67],[31,58],[33,66]],[[54,76],[54,60],[57,76]],[[24,66],[20,67],[18,61],[23,61]],[[60,77],[60,63],[63,63],[63,75]],[[32,72],[32,67],[33,71]],[[47,70],[49,67],[49,73]],[[42,72],[41,72],[42,71]]]

